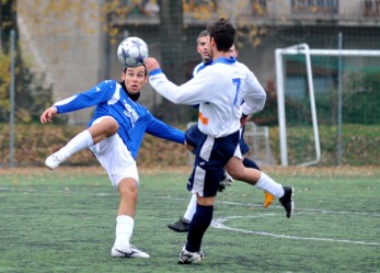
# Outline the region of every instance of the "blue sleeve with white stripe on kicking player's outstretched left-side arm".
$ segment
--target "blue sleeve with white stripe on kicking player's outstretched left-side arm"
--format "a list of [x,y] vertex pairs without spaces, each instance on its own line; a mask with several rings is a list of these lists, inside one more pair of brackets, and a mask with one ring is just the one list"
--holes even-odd
[[58,113],[69,113],[97,105],[112,98],[115,92],[116,84],[116,81],[103,81],[85,92],[78,93],[68,99],[56,102],[54,106],[57,107]]

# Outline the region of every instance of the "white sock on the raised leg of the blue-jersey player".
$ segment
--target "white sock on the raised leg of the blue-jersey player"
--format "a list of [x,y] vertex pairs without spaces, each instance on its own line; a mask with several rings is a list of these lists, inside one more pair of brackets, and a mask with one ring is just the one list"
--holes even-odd
[[73,153],[89,148],[93,145],[92,136],[89,130],[83,130],[74,136],[65,147],[57,151],[57,156],[61,161],[65,161]]

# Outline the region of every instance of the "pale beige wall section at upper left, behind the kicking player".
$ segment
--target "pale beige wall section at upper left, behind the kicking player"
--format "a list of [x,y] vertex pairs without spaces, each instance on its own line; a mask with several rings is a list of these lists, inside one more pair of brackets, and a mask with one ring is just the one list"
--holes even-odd
[[[91,10],[57,16],[54,11],[44,11],[48,1],[39,1],[39,7],[33,7],[34,1],[18,1],[23,57],[36,71],[46,73],[54,88],[55,101],[88,90],[99,81],[102,34],[99,16],[90,15],[99,13],[91,2],[81,1],[82,7],[92,7]],[[78,5],[71,8],[81,9]],[[69,124],[85,124],[90,113],[91,110],[70,113]]]

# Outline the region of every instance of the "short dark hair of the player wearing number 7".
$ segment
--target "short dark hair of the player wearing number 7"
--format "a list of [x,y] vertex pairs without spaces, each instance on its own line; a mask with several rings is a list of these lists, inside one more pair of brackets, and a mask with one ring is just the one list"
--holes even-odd
[[221,18],[217,22],[207,26],[207,32],[215,39],[220,52],[228,52],[234,42],[235,29],[226,19]]

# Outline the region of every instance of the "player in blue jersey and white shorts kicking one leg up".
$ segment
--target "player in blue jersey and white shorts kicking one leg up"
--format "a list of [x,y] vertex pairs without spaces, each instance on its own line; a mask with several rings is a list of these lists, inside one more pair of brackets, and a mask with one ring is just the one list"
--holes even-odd
[[130,244],[139,184],[136,157],[145,133],[179,144],[184,144],[185,137],[183,132],[157,120],[137,102],[147,82],[145,66],[126,67],[122,80],[103,81],[87,92],[55,103],[42,114],[41,122],[50,123],[57,114],[95,106],[88,128],[49,156],[45,164],[56,169],[74,152],[90,148],[119,192],[112,255],[149,258]]

